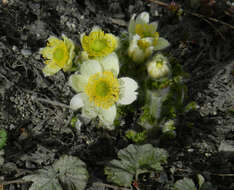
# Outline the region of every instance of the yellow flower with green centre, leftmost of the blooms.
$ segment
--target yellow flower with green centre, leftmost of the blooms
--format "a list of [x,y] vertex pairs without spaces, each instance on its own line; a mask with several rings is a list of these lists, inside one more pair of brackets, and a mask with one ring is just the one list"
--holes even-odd
[[45,59],[46,66],[43,69],[45,76],[57,73],[60,69],[68,71],[72,67],[72,60],[75,56],[75,45],[72,40],[62,35],[63,40],[56,37],[49,37],[45,48],[40,49]]

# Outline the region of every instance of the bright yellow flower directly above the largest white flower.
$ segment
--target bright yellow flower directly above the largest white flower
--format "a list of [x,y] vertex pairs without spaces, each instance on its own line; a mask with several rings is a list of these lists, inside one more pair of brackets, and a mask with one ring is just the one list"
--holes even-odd
[[115,51],[118,38],[96,27],[88,36],[81,35],[81,45],[90,58],[104,57]]

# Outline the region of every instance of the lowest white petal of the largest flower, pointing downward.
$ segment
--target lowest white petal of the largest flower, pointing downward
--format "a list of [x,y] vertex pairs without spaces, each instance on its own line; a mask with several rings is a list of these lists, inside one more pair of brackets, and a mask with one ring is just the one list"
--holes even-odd
[[111,126],[116,117],[116,106],[113,105],[108,109],[100,109],[98,117],[105,126]]

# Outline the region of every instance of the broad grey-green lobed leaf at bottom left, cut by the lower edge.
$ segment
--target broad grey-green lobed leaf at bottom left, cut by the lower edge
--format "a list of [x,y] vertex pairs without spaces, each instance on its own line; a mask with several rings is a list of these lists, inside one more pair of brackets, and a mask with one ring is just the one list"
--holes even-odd
[[88,181],[88,172],[79,158],[65,155],[52,167],[39,169],[23,179],[33,182],[29,190],[83,190]]

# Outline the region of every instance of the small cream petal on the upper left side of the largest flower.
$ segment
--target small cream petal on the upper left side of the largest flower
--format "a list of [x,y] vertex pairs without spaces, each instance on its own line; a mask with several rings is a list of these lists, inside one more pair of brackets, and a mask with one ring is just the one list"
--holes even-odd
[[68,81],[68,84],[76,91],[82,92],[86,84],[88,83],[88,77],[85,75],[74,74],[71,75]]

